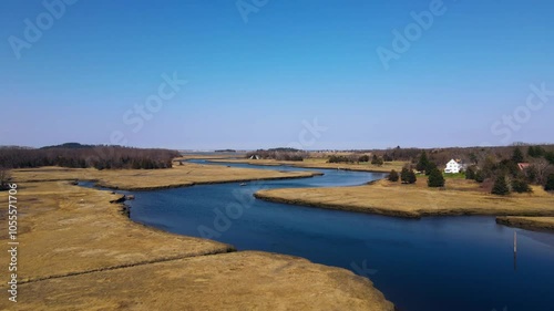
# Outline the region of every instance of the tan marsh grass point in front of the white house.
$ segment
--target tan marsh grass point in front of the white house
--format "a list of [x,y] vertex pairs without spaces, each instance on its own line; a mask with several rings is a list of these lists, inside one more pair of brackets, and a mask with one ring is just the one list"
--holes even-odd
[[255,194],[259,199],[330,209],[419,218],[423,216],[554,216],[554,195],[541,187],[533,194],[494,196],[479,184],[449,179],[444,189],[378,180],[356,187],[269,189]]

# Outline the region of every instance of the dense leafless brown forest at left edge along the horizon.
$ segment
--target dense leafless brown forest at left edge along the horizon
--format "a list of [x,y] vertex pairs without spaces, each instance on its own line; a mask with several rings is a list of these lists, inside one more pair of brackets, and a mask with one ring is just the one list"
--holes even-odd
[[98,169],[172,167],[176,151],[69,143],[43,148],[0,147],[0,167],[27,168],[62,166]]

